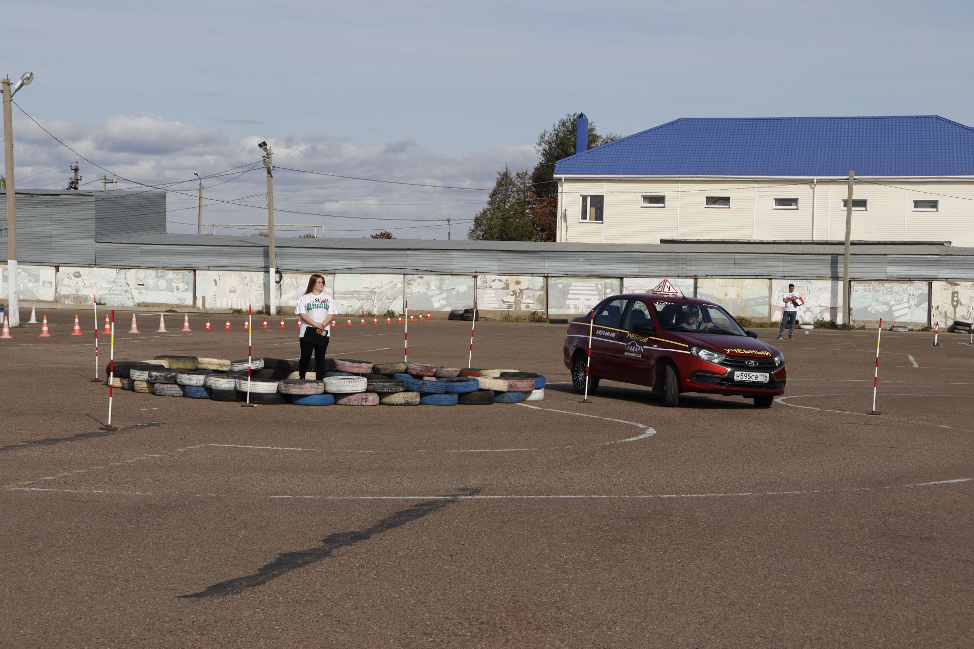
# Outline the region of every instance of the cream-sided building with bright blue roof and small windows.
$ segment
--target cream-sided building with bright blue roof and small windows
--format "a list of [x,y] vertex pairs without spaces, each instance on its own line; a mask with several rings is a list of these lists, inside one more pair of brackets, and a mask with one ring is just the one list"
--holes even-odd
[[[580,146],[580,148],[582,148]],[[558,161],[558,240],[974,245],[974,128],[936,115],[683,118]]]

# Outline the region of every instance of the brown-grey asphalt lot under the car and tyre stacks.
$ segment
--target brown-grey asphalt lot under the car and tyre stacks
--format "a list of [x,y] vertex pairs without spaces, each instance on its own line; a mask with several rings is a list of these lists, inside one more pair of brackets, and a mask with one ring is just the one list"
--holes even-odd
[[[0,341],[6,646],[970,646],[969,337],[883,332],[880,415],[875,331],[761,330],[789,370],[772,408],[665,409],[609,382],[581,404],[564,325],[480,322],[473,365],[543,373],[543,402],[115,390],[104,433],[94,337],[48,315],[53,338]],[[117,317],[117,359],[245,356],[243,316]],[[466,366],[469,329],[414,323],[410,358]],[[255,330],[254,354],[295,339]],[[329,352],[401,360],[402,331],[342,327]]]

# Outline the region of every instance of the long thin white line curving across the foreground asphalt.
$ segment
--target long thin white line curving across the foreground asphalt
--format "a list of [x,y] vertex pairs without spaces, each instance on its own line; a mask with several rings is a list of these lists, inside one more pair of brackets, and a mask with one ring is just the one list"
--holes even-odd
[[[509,494],[509,495],[393,495],[393,496],[362,496],[362,495],[272,495],[272,496],[240,496],[242,498],[258,498],[261,500],[653,500],[662,498],[696,499],[696,498],[739,498],[746,496],[783,496],[783,495],[814,495],[822,493],[849,493],[857,491],[885,491],[891,489],[907,489],[917,487],[943,487],[947,485],[963,485],[974,481],[974,478],[955,478],[952,480],[938,480],[926,483],[911,483],[909,485],[891,485],[887,487],[839,487],[830,489],[795,489],[782,491],[736,491],[727,493],[580,493],[580,494]],[[57,493],[89,493],[98,495],[160,495],[171,497],[169,493],[154,494],[151,491],[85,491],[81,489],[50,489],[40,487],[7,487],[4,491],[54,491]],[[194,493],[176,494],[187,497],[227,498],[232,497],[224,493]]]

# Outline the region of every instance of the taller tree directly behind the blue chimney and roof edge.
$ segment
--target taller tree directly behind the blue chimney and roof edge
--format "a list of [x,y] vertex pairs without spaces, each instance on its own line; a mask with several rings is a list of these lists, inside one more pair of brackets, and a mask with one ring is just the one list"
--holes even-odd
[[[562,158],[575,155],[576,120],[578,113],[569,113],[555,122],[550,129],[545,128],[538,136],[535,152],[540,160],[531,170],[531,185],[535,193],[535,240],[553,241],[558,224],[558,184],[554,182],[555,163]],[[618,140],[615,133],[599,135],[595,123],[588,123],[588,148]]]

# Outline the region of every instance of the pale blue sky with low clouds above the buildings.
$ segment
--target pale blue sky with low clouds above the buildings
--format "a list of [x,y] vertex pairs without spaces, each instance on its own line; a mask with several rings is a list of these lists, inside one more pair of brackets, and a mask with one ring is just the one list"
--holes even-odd
[[[505,164],[531,166],[539,132],[580,110],[620,135],[708,116],[939,114],[974,125],[971,16],[968,3],[900,1],[41,1],[5,10],[0,72],[33,71],[20,107],[142,183],[256,162],[266,139],[281,166],[489,188]],[[15,141],[19,187],[63,188],[76,156],[16,108]],[[81,166],[84,182],[102,173]],[[264,185],[255,169],[205,196]],[[193,197],[170,194],[169,230],[194,231],[195,180],[174,187]],[[485,194],[284,171],[275,185],[281,209],[376,219],[277,219],[342,236],[445,218],[462,236]],[[261,196],[242,202],[253,206],[207,206],[206,221],[266,219]]]

